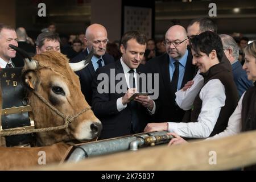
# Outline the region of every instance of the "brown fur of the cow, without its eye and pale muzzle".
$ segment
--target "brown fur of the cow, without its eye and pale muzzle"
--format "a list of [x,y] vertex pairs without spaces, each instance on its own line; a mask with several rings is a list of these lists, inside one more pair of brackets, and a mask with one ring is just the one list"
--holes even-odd
[[[69,67],[66,56],[59,52],[49,51],[36,55],[33,59],[38,61],[39,68],[36,69],[35,72],[28,72],[25,76],[26,82],[29,83],[27,85],[28,87],[35,89],[36,92],[49,101],[49,96],[52,94],[51,84],[54,81],[56,82],[56,79],[59,79],[67,85],[69,93],[67,97],[56,96],[56,98],[61,97],[59,104],[55,105],[56,109],[66,115],[74,115],[79,113],[82,109],[89,107],[80,90],[79,77],[76,76]],[[53,78],[55,80],[52,80]],[[64,124],[64,119],[43,104],[35,94],[30,92],[28,98],[30,99],[36,128],[60,126]],[[0,102],[1,101],[2,97],[0,92]],[[0,169],[22,169],[24,167],[36,166],[38,165],[38,159],[40,157],[38,155],[39,151],[46,152],[46,164],[60,162],[65,151],[68,149],[68,145],[58,142],[66,142],[75,139],[74,135],[77,135],[77,132],[81,132],[77,127],[79,127],[82,122],[100,123],[92,110],[88,110],[69,125],[69,133],[71,135],[67,135],[64,130],[36,134],[37,143],[44,147],[0,147]],[[91,132],[89,131],[89,133]],[[85,140],[86,139],[90,140],[92,137],[85,138]],[[2,143],[2,145],[3,144],[5,143]]]

